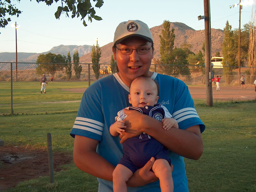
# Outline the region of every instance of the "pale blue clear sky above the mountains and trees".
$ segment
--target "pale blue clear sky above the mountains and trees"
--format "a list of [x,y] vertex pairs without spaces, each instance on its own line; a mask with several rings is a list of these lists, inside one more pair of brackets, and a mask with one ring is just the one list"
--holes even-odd
[[[241,0],[246,3],[249,0]],[[255,1],[256,0],[251,0]],[[56,20],[54,13],[60,2],[47,6],[32,0],[21,0],[16,7],[23,11],[20,16],[12,17],[5,28],[0,28],[0,52],[15,52],[15,28],[17,29],[17,51],[27,53],[42,53],[59,45],[93,45],[104,46],[113,41],[117,25],[122,21],[141,20],[151,27],[161,25],[164,20],[182,22],[195,29],[204,29],[204,20],[198,21],[197,16],[204,15],[204,0],[105,0],[103,6],[95,8],[96,15],[103,20],[85,18],[84,27],[79,18],[61,15]],[[223,29],[226,21],[232,29],[239,28],[239,6],[229,8],[229,5],[239,3],[239,0],[210,0],[211,28]],[[94,2],[91,0],[91,4]],[[241,28],[251,21],[254,5],[243,6],[241,13]]]

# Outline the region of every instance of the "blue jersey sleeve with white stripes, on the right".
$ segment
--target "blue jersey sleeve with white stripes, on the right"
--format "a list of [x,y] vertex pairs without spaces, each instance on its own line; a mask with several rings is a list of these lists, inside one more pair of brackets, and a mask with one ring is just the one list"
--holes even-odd
[[185,83],[179,83],[176,89],[173,118],[178,122],[179,129],[187,129],[194,125],[199,125],[201,133],[205,129],[204,123],[199,118],[194,101]]

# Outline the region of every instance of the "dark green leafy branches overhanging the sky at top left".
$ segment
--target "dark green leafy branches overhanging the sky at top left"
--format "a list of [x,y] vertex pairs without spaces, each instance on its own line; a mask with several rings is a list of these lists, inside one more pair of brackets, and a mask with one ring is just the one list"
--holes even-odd
[[[20,2],[20,0],[17,0]],[[31,0],[30,0],[31,1]],[[45,2],[48,6],[52,5],[53,0],[36,0],[37,3],[39,2]],[[103,5],[103,0],[93,0],[97,1],[95,4],[95,7],[101,7]],[[56,19],[60,19],[61,14],[65,14],[69,17],[68,12],[71,13],[71,18],[77,17],[79,18],[81,16],[81,20],[83,20],[83,25],[87,26],[87,24],[84,21],[84,18],[87,16],[88,21],[92,22],[92,18],[95,20],[102,20],[101,17],[95,15],[94,7],[91,6],[90,0],[54,0],[54,2],[60,4],[58,6],[55,15]],[[7,18],[6,14],[9,15],[19,15],[21,14],[21,11],[15,7],[15,4],[11,2],[11,0],[0,0],[0,27],[4,28],[9,21],[11,21],[11,18]]]

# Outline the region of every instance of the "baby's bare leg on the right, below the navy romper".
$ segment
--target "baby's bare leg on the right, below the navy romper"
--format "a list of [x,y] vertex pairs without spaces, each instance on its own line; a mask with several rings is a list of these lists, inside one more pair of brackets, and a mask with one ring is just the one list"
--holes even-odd
[[173,192],[172,169],[165,159],[157,159],[153,164],[152,170],[159,178],[161,192]]

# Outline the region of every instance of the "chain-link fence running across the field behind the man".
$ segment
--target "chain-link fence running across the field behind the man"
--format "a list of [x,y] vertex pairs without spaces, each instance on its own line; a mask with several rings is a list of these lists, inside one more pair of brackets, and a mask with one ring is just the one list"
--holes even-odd
[[[81,67],[78,65],[74,67],[74,63],[40,63],[40,65],[41,67],[38,63],[0,63],[0,108],[6,108],[0,113],[9,113],[10,105],[13,104],[79,101],[82,93],[91,83],[111,75],[112,71],[116,70],[116,66],[113,64],[80,63],[79,66]],[[94,73],[93,69],[97,69],[97,74]],[[212,69],[215,78],[221,77],[221,91],[216,91],[216,80],[214,82],[213,101],[252,100],[256,98],[253,84],[256,75],[250,75],[255,74],[256,68],[241,67],[241,75],[245,78],[246,88],[241,86],[238,70],[237,66]],[[189,87],[194,99],[205,100],[204,66],[152,64],[150,71],[181,79]],[[43,73],[47,78],[48,86],[46,89],[48,91],[46,90],[47,96],[45,94],[42,98],[38,94],[41,91],[40,79]],[[59,96],[61,94],[63,96]],[[9,109],[7,109],[8,107]]]

